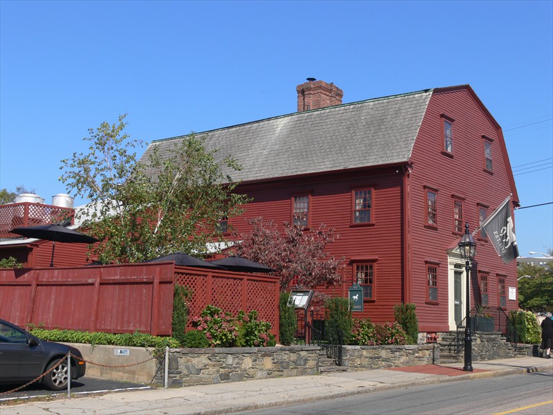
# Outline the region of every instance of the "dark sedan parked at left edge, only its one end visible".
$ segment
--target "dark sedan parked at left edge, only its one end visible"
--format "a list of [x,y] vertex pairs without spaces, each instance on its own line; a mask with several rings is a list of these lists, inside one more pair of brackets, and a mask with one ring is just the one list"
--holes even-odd
[[22,385],[48,371],[42,383],[48,389],[65,389],[69,370],[67,359],[63,358],[68,351],[72,355],[71,378],[81,378],[86,371],[86,364],[80,360],[82,354],[78,349],[41,340],[15,324],[0,319],[0,382],[3,384]]

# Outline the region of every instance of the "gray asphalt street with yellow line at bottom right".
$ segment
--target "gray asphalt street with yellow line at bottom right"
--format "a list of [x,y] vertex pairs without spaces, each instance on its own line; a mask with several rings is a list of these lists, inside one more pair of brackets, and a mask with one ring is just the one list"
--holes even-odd
[[394,389],[237,414],[553,414],[553,371]]

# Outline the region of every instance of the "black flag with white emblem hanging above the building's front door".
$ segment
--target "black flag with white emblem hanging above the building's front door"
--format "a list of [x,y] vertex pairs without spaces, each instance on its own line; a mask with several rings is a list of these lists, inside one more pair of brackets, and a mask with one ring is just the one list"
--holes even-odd
[[518,257],[516,237],[513,232],[513,220],[511,209],[507,198],[503,205],[496,209],[494,214],[489,216],[482,228],[485,229],[489,239],[494,243],[494,248],[505,264]]

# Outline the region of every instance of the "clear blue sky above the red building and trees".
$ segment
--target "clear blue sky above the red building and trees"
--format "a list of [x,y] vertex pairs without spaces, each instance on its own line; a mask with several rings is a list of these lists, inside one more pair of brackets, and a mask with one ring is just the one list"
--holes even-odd
[[[470,84],[503,127],[521,205],[550,203],[552,6],[0,0],[0,188],[50,203],[60,160],[120,113],[150,142],[292,113],[316,77],[344,102]],[[515,219],[521,255],[553,248],[553,205]]]

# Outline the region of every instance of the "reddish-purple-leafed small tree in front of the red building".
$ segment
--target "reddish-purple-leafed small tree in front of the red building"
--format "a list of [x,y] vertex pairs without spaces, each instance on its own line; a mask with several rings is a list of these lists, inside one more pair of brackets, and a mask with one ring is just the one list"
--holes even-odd
[[264,221],[262,217],[250,219],[249,223],[254,226],[252,232],[234,235],[241,241],[235,252],[276,269],[281,291],[292,285],[313,289],[339,284],[344,259],[335,259],[325,251],[326,245],[339,237],[334,228],[321,224],[316,230],[305,230],[301,225],[285,222],[280,232],[274,221]]

